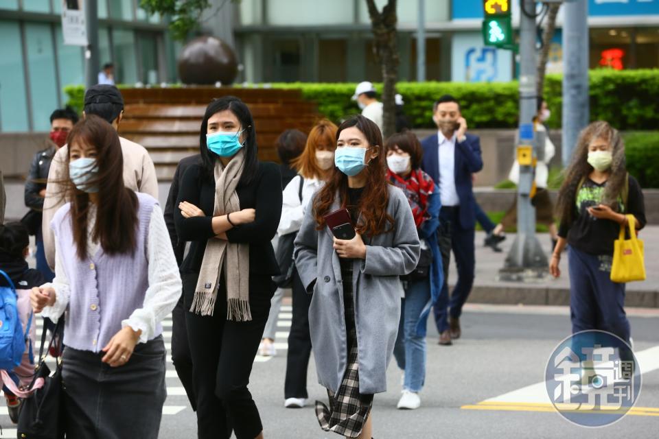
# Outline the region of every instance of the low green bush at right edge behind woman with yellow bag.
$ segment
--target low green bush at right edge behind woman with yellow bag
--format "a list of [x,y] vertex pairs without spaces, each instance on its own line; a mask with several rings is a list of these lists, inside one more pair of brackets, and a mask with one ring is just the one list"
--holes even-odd
[[629,174],[640,187],[659,188],[659,132],[629,132],[624,138]]

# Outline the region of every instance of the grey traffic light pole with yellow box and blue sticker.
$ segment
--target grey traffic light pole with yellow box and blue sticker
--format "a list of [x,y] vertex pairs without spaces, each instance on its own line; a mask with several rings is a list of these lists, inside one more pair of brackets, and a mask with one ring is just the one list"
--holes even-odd
[[548,272],[546,255],[535,236],[535,208],[531,205],[534,160],[541,155],[538,151],[540,142],[533,130],[533,117],[537,112],[535,0],[520,0],[520,9],[520,130],[517,149],[520,181],[517,194],[517,236],[504,268],[499,271],[502,281],[533,281],[544,278]]

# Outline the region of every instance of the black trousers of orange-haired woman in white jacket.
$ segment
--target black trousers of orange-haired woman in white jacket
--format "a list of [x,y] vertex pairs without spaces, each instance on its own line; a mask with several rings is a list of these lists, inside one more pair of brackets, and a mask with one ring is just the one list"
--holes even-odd
[[305,292],[304,285],[293,273],[293,318],[288,334],[288,355],[286,355],[285,398],[308,398],[307,367],[311,355],[311,334],[309,333],[309,305],[312,295]]

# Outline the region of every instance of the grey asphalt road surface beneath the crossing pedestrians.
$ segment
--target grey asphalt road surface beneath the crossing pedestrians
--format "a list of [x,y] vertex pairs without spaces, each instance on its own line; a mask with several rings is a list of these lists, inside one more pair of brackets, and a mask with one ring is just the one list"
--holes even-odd
[[[539,383],[553,348],[570,334],[566,308],[500,307],[468,305],[463,315],[463,338],[453,346],[437,345],[437,333],[429,327],[428,370],[418,410],[396,410],[400,396],[401,372],[395,361],[389,366],[389,391],[375,396],[373,422],[375,438],[656,438],[656,416],[627,415],[618,423],[601,429],[586,429],[568,423],[556,412],[472,410],[487,399]],[[635,350],[659,346],[659,311],[628,310]],[[288,331],[290,311],[280,314],[278,331]],[[432,326],[432,325],[430,325]],[[281,338],[277,342],[285,343]],[[250,390],[257,402],[266,438],[338,438],[322,431],[312,405],[284,409],[286,351],[276,357],[258,358]],[[659,353],[655,351],[655,357]],[[655,358],[659,360],[659,358]],[[169,367],[171,368],[171,366]],[[316,383],[313,360],[309,368],[310,400],[325,399]],[[176,378],[167,385],[175,388]],[[170,395],[167,405],[185,406],[176,415],[163,416],[161,438],[194,438],[194,412],[185,396]],[[659,370],[643,375],[637,407],[656,407],[659,416]]]

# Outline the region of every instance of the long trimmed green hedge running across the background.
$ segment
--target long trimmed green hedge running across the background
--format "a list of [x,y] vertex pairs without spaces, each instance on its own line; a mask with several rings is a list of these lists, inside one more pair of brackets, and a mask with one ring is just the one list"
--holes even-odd
[[[356,84],[270,84],[272,88],[299,88],[305,99],[318,103],[321,115],[340,121],[359,112],[350,97]],[[119,86],[121,87],[121,86]],[[382,84],[375,84],[382,90]],[[82,86],[67,86],[69,104],[82,110]],[[432,103],[450,93],[463,104],[470,128],[515,128],[518,120],[518,82],[399,82],[405,112],[415,128],[434,128]],[[550,128],[561,126],[562,76],[548,75],[544,97],[552,111]],[[620,130],[655,130],[659,113],[659,70],[590,71],[590,118],[610,121]]]

